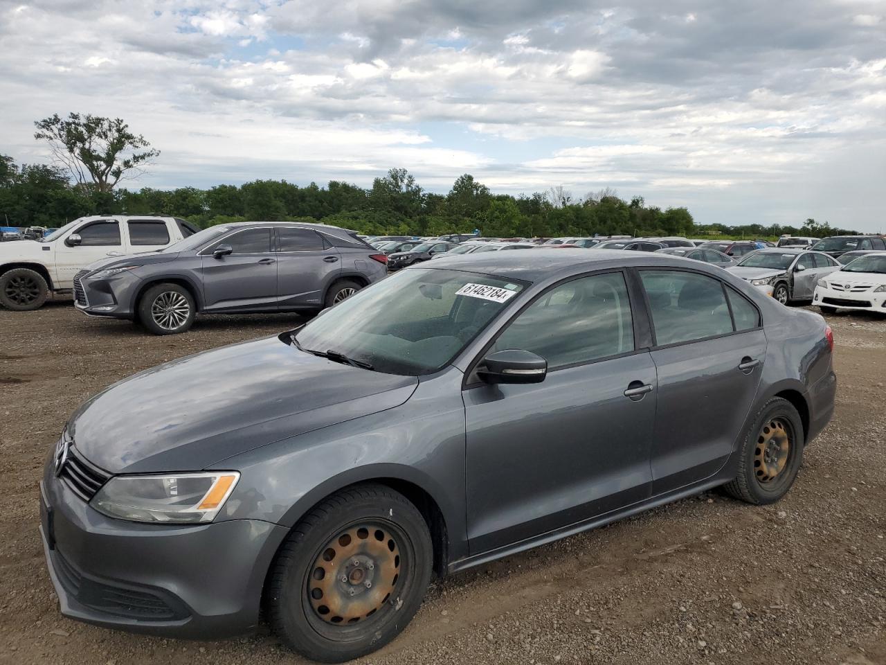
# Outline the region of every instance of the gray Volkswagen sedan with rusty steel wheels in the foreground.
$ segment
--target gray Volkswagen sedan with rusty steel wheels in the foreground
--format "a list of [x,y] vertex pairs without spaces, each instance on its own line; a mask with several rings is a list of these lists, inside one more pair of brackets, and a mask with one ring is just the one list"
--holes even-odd
[[[402,270],[68,420],[41,482],[66,616],[346,661],[453,574],[725,486],[778,501],[833,337],[714,266],[564,249]],[[813,471],[814,473],[814,471]]]

